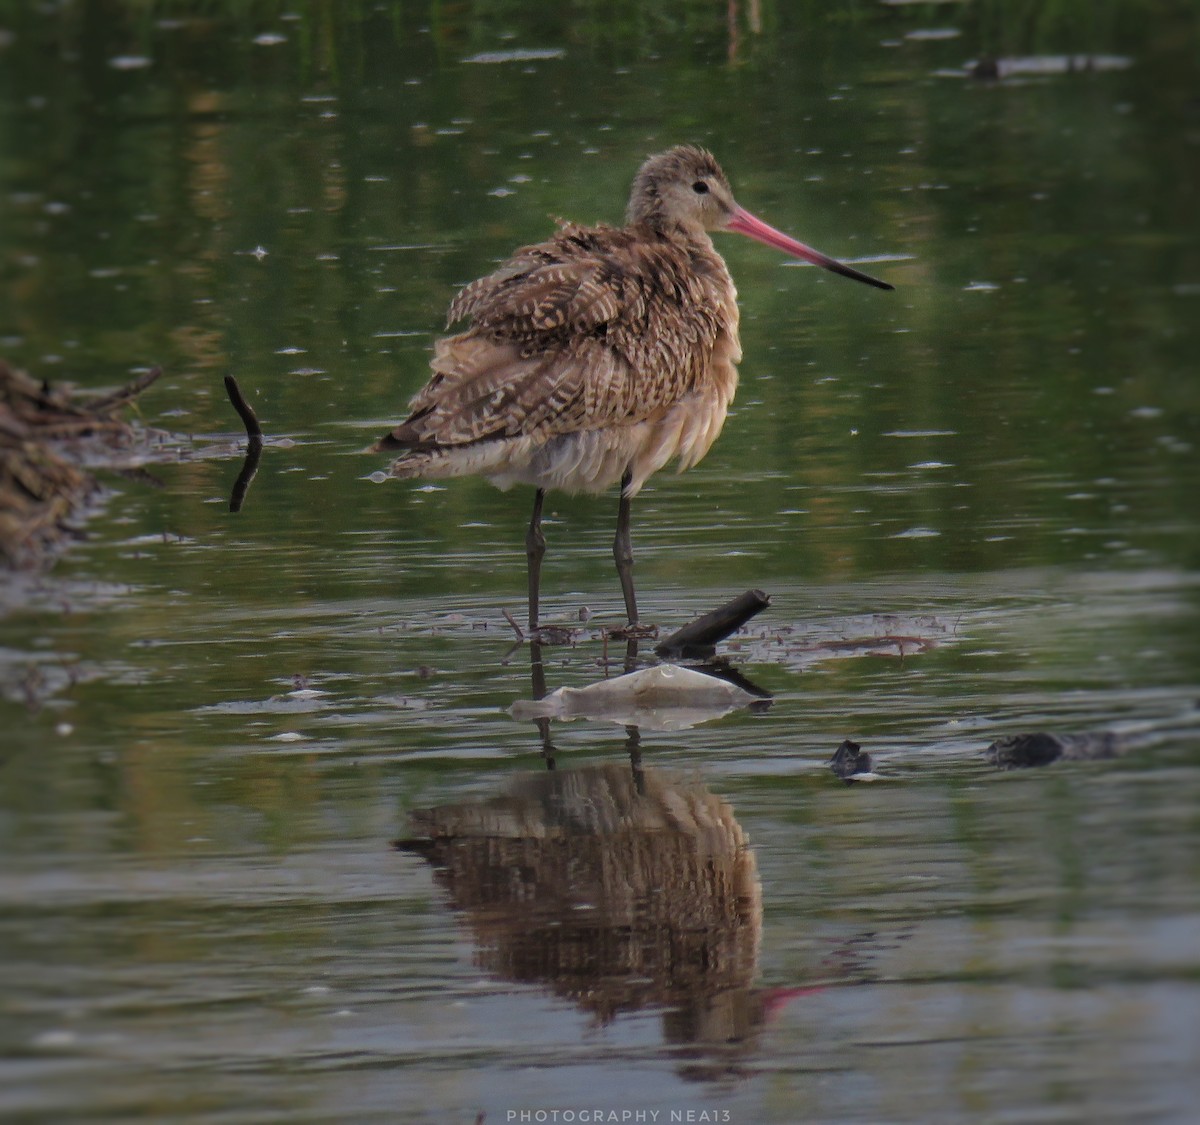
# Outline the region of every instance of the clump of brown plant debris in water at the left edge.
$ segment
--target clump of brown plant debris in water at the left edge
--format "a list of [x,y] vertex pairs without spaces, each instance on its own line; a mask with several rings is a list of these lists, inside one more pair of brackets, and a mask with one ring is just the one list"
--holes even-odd
[[155,367],[92,398],[0,360],[0,565],[49,566],[76,537],[100,485],[91,467],[127,468],[139,431],[118,417],[162,374]]

